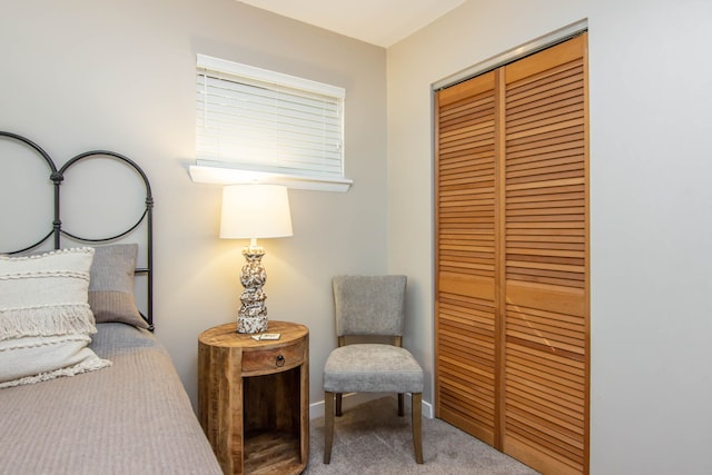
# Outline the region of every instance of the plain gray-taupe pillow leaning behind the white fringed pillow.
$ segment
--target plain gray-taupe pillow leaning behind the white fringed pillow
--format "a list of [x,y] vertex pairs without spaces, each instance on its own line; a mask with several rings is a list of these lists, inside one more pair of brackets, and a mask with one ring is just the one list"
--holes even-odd
[[120,321],[148,328],[134,298],[138,245],[116,244],[95,249],[89,280],[89,306],[98,324]]

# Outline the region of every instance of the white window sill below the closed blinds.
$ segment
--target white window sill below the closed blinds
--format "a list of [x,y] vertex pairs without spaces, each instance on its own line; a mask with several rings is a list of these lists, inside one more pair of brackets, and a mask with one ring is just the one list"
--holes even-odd
[[346,178],[299,177],[265,171],[239,170],[236,168],[191,165],[190,179],[196,184],[236,185],[268,184],[284,185],[290,189],[346,192],[354,180]]

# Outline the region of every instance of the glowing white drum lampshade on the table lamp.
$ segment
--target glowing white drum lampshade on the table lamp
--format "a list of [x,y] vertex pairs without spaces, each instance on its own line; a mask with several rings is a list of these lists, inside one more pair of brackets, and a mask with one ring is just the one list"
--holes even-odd
[[286,187],[230,185],[222,188],[221,238],[255,239],[291,235]]

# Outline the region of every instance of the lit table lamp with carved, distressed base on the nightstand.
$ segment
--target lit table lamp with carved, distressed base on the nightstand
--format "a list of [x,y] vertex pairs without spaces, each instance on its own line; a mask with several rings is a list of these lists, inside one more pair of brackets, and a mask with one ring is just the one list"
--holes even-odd
[[245,287],[240,295],[237,331],[243,334],[267,330],[267,296],[263,286],[267,273],[261,264],[265,249],[258,238],[291,236],[291,216],[287,188],[279,185],[230,185],[222,188],[220,238],[250,239],[243,249],[247,263],[240,273]]

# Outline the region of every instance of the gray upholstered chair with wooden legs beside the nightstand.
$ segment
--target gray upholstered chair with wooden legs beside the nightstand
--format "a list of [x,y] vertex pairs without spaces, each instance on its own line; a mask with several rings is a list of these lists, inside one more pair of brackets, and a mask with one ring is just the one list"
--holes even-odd
[[[413,355],[402,348],[406,280],[405,276],[333,279],[338,348],[332,352],[324,367],[325,464],[332,459],[334,415],[342,415],[344,393],[397,393],[399,416],[404,412],[403,395],[411,393],[415,461],[423,463],[423,369]],[[347,344],[349,336],[357,336],[358,343]],[[382,343],[363,343],[368,337],[380,337]],[[389,337],[393,344],[384,344],[383,337]]]

